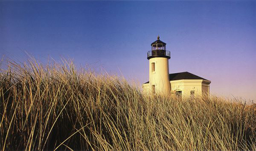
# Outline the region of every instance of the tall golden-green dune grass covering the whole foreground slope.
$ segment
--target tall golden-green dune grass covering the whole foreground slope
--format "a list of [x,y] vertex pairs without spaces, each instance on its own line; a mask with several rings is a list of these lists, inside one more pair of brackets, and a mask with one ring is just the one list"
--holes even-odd
[[143,95],[72,62],[7,62],[0,73],[0,149],[256,149],[256,107],[220,97]]

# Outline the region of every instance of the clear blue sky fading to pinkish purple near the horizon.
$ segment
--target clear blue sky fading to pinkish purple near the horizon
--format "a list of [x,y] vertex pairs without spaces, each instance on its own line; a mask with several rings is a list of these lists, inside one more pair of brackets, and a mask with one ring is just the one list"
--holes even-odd
[[170,73],[256,100],[256,1],[0,1],[0,55],[14,60],[71,58],[142,84],[157,35]]

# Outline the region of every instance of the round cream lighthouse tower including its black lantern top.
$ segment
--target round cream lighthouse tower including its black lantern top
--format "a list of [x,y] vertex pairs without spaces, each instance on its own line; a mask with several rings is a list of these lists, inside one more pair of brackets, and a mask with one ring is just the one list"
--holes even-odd
[[169,65],[170,52],[165,49],[166,43],[157,37],[151,46],[152,50],[147,52],[147,59],[150,61],[149,89],[152,93],[170,93]]

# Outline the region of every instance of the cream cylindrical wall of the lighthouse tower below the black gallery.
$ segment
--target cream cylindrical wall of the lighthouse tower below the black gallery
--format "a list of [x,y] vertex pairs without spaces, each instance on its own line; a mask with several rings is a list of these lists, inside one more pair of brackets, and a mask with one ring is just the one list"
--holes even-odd
[[[155,63],[155,71],[152,72],[152,63]],[[157,57],[150,59],[150,89],[155,85],[156,93],[169,94],[169,66],[168,59]]]

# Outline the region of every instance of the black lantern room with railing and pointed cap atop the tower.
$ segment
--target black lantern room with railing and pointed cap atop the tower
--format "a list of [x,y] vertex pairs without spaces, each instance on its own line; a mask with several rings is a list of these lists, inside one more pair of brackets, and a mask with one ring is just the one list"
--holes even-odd
[[160,37],[157,36],[157,40],[151,44],[152,50],[147,52],[147,59],[163,57],[170,59],[170,52],[166,51],[166,43],[160,40]]

